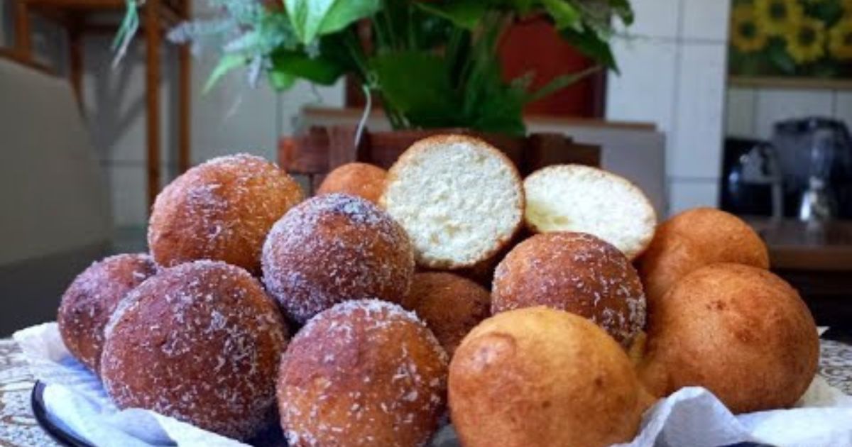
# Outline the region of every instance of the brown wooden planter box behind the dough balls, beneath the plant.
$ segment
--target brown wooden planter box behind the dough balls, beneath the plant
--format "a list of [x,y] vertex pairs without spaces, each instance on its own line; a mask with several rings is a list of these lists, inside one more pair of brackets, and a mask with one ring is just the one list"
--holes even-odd
[[354,125],[314,126],[302,135],[279,142],[279,164],[288,172],[307,175],[311,192],[331,170],[345,163],[364,162],[389,169],[409,146],[430,135],[473,135],[488,141],[515,163],[521,175],[559,163],[599,166],[601,149],[579,145],[559,134],[533,134],[526,138],[499,134],[481,134],[469,129],[429,129],[371,132],[364,130],[360,142],[354,144]]

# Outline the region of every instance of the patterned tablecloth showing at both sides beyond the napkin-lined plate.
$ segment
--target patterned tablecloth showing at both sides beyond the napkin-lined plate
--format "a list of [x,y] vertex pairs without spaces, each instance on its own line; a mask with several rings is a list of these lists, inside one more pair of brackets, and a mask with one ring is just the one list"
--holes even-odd
[[[852,395],[852,346],[822,341],[820,375],[832,386]],[[0,340],[0,447],[54,447],[32,415],[30,393],[34,379],[20,347]]]

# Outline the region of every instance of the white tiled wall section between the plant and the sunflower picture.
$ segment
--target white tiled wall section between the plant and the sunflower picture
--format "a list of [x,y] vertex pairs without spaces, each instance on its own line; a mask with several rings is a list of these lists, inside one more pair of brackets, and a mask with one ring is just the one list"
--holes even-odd
[[607,118],[656,123],[667,137],[669,211],[717,205],[728,54],[728,0],[634,0],[614,43]]

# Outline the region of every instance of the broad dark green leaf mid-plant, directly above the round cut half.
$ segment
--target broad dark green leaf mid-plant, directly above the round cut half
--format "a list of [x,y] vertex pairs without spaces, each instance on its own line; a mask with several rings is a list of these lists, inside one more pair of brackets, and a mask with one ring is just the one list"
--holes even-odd
[[423,52],[379,54],[370,60],[386,105],[419,127],[457,123],[458,106],[446,60]]

